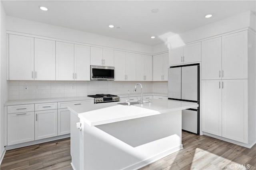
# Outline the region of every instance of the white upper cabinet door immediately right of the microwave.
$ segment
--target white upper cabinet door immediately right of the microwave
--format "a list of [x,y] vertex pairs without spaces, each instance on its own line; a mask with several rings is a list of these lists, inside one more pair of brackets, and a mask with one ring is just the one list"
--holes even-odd
[[124,81],[126,80],[125,72],[125,52],[116,51],[114,52],[114,66],[115,66],[115,80]]

